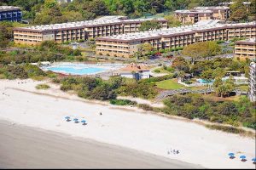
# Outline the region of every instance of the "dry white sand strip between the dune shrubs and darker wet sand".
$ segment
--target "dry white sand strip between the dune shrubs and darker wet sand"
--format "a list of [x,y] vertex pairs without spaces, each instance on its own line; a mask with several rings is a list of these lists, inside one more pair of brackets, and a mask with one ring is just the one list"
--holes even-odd
[[[170,161],[185,161],[195,167],[255,168],[251,161],[255,157],[255,139],[147,114],[137,108],[122,110],[101,102],[85,102],[52,84],[48,90],[37,90],[38,83],[42,82],[0,80],[0,120],[114,144]],[[65,116],[85,119],[88,124],[66,122]],[[171,148],[179,150],[179,154],[167,154]],[[230,160],[229,152],[236,153],[236,159]],[[240,161],[241,155],[248,161]]]

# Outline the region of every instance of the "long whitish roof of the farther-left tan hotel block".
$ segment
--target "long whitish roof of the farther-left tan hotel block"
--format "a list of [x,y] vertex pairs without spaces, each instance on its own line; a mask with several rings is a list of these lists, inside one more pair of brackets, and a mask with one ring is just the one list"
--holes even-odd
[[145,20],[159,20],[159,21],[166,21],[166,19],[134,19],[134,20],[127,20],[125,16],[104,16],[102,18],[96,20],[84,20],[78,22],[67,22],[61,24],[52,24],[52,25],[41,25],[41,26],[27,26],[27,27],[20,27],[15,28],[15,30],[20,31],[55,31],[55,30],[65,30],[71,28],[82,29],[85,27],[91,26],[109,26],[112,24],[125,24],[125,23],[140,23]]

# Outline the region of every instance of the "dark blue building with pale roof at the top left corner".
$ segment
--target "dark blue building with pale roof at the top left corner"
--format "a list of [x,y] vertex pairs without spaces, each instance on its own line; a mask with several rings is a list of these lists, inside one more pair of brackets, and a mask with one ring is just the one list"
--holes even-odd
[[21,21],[22,12],[19,7],[0,6],[0,21]]

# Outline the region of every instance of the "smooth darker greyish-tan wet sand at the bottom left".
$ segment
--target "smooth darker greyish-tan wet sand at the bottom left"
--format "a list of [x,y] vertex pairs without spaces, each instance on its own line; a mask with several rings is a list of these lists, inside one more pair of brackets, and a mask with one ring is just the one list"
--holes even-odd
[[0,168],[200,168],[91,139],[0,122]]

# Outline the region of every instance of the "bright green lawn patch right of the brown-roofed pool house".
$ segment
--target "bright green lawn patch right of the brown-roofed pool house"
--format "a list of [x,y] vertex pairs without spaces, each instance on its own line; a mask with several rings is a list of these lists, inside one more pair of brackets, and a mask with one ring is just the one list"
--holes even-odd
[[185,88],[183,85],[177,83],[177,79],[156,82],[156,86],[157,88],[162,88],[166,90],[175,90],[175,89]]

